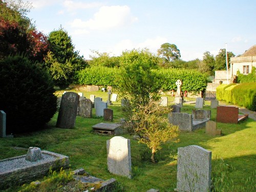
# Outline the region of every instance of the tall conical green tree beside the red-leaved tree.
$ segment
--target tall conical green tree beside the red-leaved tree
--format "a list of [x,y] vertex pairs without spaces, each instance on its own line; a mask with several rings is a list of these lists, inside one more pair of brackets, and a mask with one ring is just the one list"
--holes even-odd
[[75,51],[71,37],[62,28],[52,31],[48,41],[50,51],[46,57],[46,66],[58,86],[68,86],[75,72],[86,67],[87,62]]

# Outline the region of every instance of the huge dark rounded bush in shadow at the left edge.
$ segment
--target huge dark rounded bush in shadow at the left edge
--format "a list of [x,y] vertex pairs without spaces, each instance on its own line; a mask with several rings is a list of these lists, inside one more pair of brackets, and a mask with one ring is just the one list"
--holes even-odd
[[54,92],[48,73],[28,58],[0,60],[0,109],[6,113],[7,133],[43,128],[57,109]]

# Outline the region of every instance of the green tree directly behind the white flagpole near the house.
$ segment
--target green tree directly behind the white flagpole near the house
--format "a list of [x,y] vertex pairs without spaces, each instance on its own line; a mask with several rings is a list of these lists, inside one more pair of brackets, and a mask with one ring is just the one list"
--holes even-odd
[[[229,62],[230,58],[234,57],[234,54],[232,52],[227,52],[227,56]],[[219,54],[216,55],[214,70],[226,70],[226,49],[220,49]]]

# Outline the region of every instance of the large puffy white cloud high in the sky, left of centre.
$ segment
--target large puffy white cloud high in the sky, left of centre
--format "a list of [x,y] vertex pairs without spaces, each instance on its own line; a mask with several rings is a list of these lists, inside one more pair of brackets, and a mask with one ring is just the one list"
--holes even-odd
[[74,19],[71,27],[104,30],[128,25],[136,20],[138,18],[132,16],[128,6],[103,6],[94,14],[93,18],[85,22],[80,18]]

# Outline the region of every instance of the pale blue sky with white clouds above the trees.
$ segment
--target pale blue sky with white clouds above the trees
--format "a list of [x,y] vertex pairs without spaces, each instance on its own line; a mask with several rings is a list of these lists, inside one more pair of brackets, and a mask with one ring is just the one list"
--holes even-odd
[[185,61],[220,49],[243,54],[256,45],[255,0],[29,0],[28,17],[49,35],[60,26],[75,50],[90,59],[93,51],[119,56],[144,49],[157,54],[175,44]]

